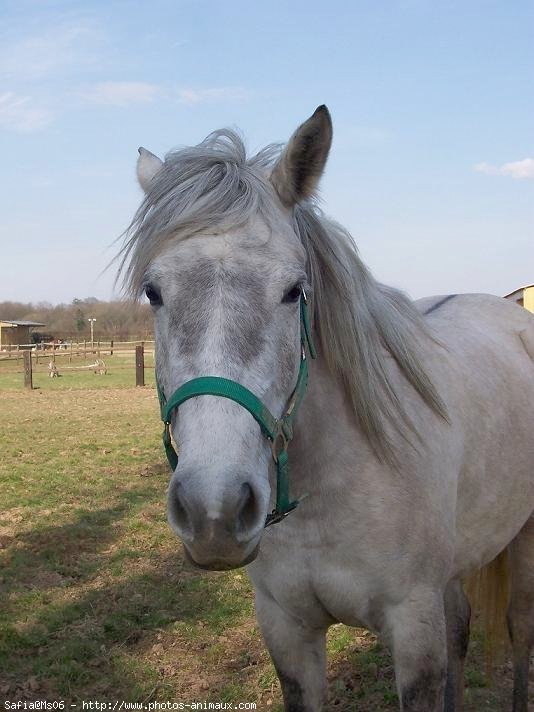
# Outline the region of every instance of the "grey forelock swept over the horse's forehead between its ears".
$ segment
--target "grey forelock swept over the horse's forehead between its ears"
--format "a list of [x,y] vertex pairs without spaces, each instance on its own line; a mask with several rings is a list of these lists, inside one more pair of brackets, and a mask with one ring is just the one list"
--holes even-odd
[[197,146],[170,151],[119,253],[118,277],[130,296],[140,295],[148,266],[171,241],[225,232],[257,214],[272,225],[278,216],[269,175],[280,150],[273,144],[247,159],[241,136],[221,129]]

